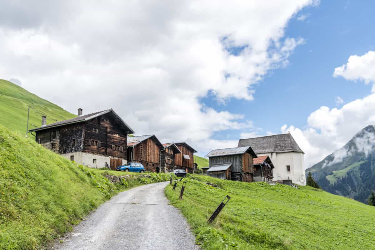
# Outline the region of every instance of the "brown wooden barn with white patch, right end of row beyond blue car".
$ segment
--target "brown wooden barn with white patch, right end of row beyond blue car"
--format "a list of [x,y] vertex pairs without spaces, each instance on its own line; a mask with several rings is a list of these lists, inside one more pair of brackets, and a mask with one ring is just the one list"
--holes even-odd
[[187,173],[194,172],[194,157],[193,154],[197,151],[190,147],[186,142],[175,143],[181,154],[176,154],[174,158],[175,169],[184,169]]

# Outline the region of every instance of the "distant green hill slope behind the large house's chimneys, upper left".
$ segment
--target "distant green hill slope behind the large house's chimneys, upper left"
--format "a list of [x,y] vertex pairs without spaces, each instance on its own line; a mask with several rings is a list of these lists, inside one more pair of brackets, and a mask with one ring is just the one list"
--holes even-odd
[[[29,129],[40,127],[42,115],[47,116],[47,124],[77,116],[16,84],[0,79],[0,124],[25,135],[27,106],[31,107]],[[30,138],[34,139],[33,136]]]

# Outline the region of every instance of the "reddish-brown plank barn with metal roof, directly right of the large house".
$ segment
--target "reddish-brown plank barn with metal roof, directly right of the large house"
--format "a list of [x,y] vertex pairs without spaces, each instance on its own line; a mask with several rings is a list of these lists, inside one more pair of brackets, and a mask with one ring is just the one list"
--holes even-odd
[[160,171],[160,151],[164,146],[155,135],[141,135],[127,138],[127,159],[142,163],[146,171]]

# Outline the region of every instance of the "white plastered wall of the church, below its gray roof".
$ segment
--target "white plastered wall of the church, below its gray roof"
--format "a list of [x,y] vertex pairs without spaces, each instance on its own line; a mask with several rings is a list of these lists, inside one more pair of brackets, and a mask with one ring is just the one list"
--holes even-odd
[[[273,169],[273,181],[288,180],[290,178],[293,183],[305,186],[305,160],[303,153],[286,152],[286,153],[264,153],[257,156],[268,155],[275,168]],[[287,172],[287,165],[290,166],[290,172]]]

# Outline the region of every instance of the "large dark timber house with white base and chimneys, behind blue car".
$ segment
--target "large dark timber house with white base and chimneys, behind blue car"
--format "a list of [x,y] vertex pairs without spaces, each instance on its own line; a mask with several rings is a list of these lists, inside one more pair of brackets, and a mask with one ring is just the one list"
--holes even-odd
[[113,111],[107,109],[31,129],[37,143],[75,162],[93,168],[115,169],[126,160],[126,141],[134,131]]

